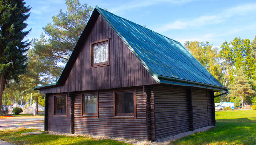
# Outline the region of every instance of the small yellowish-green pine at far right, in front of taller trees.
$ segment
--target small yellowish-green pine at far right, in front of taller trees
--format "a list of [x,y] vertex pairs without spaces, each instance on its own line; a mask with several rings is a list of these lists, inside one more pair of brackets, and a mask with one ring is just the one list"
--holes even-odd
[[234,77],[234,81],[230,85],[231,90],[229,96],[233,98],[240,97],[242,108],[244,108],[244,102],[250,103],[255,91],[252,90],[252,86],[250,85],[243,68],[237,68],[236,72],[237,76]]

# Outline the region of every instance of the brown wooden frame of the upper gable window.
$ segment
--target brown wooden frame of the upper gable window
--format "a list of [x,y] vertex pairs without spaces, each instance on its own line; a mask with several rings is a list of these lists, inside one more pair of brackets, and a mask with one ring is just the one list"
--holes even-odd
[[[94,63],[94,46],[105,44],[105,43],[108,44],[108,61]],[[95,68],[95,67],[108,66],[108,65],[110,65],[109,38],[91,42],[90,43],[90,67]]]

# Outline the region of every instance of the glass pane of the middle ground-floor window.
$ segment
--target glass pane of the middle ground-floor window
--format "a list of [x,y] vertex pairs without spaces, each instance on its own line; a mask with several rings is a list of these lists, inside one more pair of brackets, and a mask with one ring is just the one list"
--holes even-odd
[[97,113],[97,96],[84,95],[84,113]]

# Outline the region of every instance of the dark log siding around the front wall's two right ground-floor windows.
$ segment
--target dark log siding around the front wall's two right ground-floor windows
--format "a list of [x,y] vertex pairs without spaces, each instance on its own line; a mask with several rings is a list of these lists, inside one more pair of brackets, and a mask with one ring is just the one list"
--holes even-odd
[[75,94],[75,133],[147,139],[146,94],[136,89],[137,119],[114,119],[113,91],[99,92],[99,118],[81,117],[81,94]]

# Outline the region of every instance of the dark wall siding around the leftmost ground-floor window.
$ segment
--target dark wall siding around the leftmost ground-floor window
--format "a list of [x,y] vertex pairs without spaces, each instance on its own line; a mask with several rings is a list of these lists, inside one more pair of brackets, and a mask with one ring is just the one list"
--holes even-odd
[[70,97],[67,97],[67,117],[54,117],[54,96],[49,95],[48,102],[48,130],[62,133],[71,132]]

